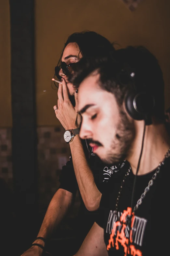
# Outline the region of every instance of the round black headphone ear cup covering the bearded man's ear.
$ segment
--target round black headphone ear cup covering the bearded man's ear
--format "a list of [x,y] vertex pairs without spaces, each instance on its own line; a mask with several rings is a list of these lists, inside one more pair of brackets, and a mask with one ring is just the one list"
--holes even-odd
[[145,120],[151,116],[155,106],[154,97],[145,92],[129,93],[125,98],[128,114],[135,120]]

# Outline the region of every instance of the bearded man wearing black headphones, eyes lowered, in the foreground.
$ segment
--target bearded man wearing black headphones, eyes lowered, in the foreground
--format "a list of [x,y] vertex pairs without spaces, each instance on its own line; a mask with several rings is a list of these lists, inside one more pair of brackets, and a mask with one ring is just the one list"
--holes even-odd
[[169,254],[170,137],[158,61],[146,48],[129,46],[80,60],[70,81],[78,88],[80,137],[107,164],[131,165],[109,180],[76,256]]

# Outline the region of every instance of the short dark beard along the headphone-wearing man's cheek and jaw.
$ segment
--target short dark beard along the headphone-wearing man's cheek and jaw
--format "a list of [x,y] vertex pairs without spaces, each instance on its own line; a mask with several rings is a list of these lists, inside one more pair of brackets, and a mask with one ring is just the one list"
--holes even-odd
[[[106,164],[117,164],[125,160],[135,137],[133,120],[130,121],[124,111],[120,111],[120,118],[121,122],[117,126],[111,149],[107,153],[107,158],[103,159]],[[115,151],[119,153],[113,153]]]

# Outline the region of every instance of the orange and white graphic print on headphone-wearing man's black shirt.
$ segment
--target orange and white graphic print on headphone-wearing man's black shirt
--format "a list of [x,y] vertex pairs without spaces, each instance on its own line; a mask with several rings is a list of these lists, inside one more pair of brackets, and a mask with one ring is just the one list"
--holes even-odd
[[[143,236],[147,224],[145,218],[138,217],[132,213],[131,222],[128,221],[132,213],[132,208],[128,207],[123,213],[118,212],[118,218],[116,211],[110,210],[106,233],[110,234],[108,240],[107,250],[111,247],[115,247],[119,250],[119,247],[124,247],[124,255],[142,256],[142,252],[136,249],[135,245],[142,246]],[[131,228],[128,225],[131,223]],[[129,244],[130,239],[130,245]],[[132,244],[133,243],[133,244]]]

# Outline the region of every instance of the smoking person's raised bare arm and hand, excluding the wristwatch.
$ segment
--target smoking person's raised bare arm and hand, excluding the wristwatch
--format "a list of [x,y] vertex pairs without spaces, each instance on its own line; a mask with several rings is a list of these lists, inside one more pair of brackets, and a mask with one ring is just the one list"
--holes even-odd
[[[76,126],[78,94],[75,93],[76,106],[73,107],[69,100],[68,90],[63,79],[62,85],[58,89],[58,106],[54,106],[55,114],[65,130],[78,128]],[[57,109],[57,110],[56,110]],[[94,211],[99,208],[101,193],[94,182],[92,170],[86,160],[83,147],[78,135],[70,143],[73,159],[74,171],[76,174],[78,187],[86,208]]]

